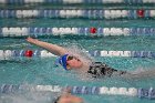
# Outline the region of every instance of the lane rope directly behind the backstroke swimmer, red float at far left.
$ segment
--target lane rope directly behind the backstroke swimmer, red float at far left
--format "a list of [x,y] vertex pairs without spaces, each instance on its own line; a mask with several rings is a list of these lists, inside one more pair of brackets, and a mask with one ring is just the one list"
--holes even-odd
[[[91,56],[155,58],[155,51],[86,51]],[[0,60],[54,58],[46,50],[0,50]]]

